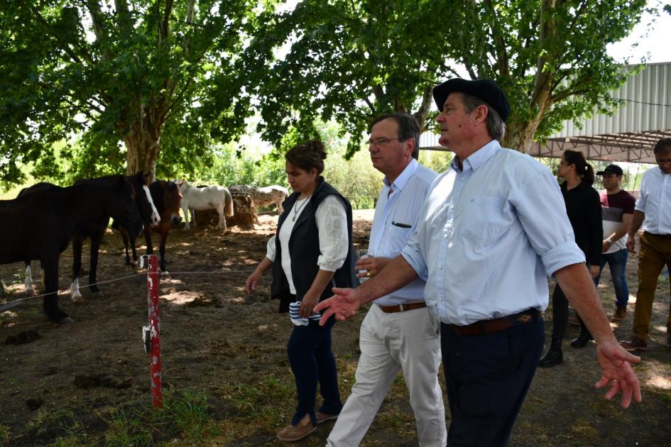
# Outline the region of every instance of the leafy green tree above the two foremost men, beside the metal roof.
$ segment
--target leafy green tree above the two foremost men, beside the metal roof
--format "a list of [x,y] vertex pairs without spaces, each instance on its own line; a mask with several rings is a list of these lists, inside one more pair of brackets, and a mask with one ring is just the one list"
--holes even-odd
[[628,75],[606,54],[638,23],[645,0],[301,1],[269,14],[249,52],[263,126],[273,142],[290,126],[335,118],[358,150],[377,114],[414,114],[432,126],[431,89],[460,70],[495,79],[513,112],[504,144],[526,150],[567,118],[616,106],[609,90]]

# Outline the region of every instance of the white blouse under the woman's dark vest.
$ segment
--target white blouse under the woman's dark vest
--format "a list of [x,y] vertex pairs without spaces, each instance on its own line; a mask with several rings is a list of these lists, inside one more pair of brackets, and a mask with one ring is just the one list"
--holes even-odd
[[[297,200],[294,202],[292,208],[288,212],[287,218],[280,227],[280,247],[282,248],[282,270],[289,282],[289,290],[292,294],[296,294],[296,287],[293,284],[293,276],[291,275],[291,257],[289,253],[289,238],[293,227],[295,225],[294,209],[299,210],[297,214],[300,216],[305,211],[305,201],[307,199]],[[345,263],[347,258],[347,250],[349,248],[347,237],[347,212],[340,201],[340,198],[331,194],[327,196],[322,203],[317,206],[315,213],[317,220],[317,230],[320,238],[320,255],[317,258],[317,265],[321,270],[335,272]],[[266,245],[266,258],[275,262],[275,238],[273,236]],[[302,297],[301,297],[302,298]]]

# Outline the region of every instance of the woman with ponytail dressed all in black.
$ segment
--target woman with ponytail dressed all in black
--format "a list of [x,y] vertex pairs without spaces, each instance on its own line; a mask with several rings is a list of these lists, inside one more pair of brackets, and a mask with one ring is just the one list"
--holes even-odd
[[[575,241],[585,254],[585,262],[592,277],[599,275],[601,248],[604,230],[601,222],[601,200],[594,184],[594,170],[582,152],[566,150],[562,155],[557,175],[564,179],[561,184],[566,212],[573,227]],[[539,366],[549,368],[564,363],[562,341],[569,321],[569,302],[559,285],[552,293],[552,338],[550,349],[540,358]],[[584,348],[592,339],[587,326],[580,321],[580,335],[571,341],[574,348]]]

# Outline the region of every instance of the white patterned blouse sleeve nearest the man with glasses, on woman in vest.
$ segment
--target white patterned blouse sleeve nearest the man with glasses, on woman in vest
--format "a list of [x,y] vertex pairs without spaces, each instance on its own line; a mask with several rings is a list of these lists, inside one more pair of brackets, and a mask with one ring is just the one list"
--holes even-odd
[[347,212],[339,197],[326,197],[315,213],[320,236],[320,255],[317,265],[321,270],[335,272],[345,263],[349,248]]

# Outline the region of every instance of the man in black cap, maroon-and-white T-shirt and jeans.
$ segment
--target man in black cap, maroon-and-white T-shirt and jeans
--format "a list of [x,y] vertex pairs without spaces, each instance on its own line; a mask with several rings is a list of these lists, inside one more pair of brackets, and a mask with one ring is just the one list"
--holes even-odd
[[625,274],[628,258],[626,241],[636,198],[622,189],[623,172],[618,165],[608,165],[603,171],[596,172],[596,175],[601,175],[601,184],[606,190],[600,194],[604,242],[599,276],[594,278],[594,282],[599,284],[601,272],[608,263],[615,287],[615,313],[611,316],[611,321],[618,323],[627,318],[629,286]]

